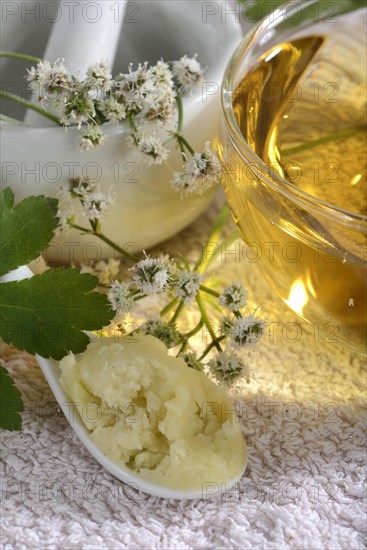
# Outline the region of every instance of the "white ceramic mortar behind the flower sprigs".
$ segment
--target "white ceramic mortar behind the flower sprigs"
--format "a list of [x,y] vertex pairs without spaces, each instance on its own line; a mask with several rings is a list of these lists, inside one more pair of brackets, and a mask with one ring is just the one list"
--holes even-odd
[[[224,18],[222,8],[226,4],[223,0],[207,4],[213,13],[210,15],[208,11],[204,17],[203,4],[198,0],[126,3],[126,7],[133,6],[136,10],[133,15],[135,18],[137,14],[137,22],[128,23],[131,21],[130,9],[124,12],[121,51],[116,54],[123,69],[129,61],[136,66],[138,61],[154,61],[160,57],[168,61],[185,53],[189,56],[197,53],[202,66],[207,67],[204,82],[183,100],[185,137],[197,151],[202,150],[207,140],[211,141],[213,149],[217,147],[220,83],[242,37],[236,16]],[[39,27],[39,32],[44,32],[45,23]],[[1,27],[4,41],[14,51],[22,50],[21,39],[31,41],[33,33],[37,32],[37,25],[22,24],[21,10],[16,25]],[[247,23],[247,27],[251,24]],[[213,186],[201,196],[183,202],[169,184],[173,172],[182,170],[178,151],[171,146],[168,161],[160,166],[148,166],[142,162],[141,152],[136,147],[126,147],[125,140],[130,135],[128,124],[105,124],[106,142],[86,152],[76,146],[80,139],[76,126],[65,132],[55,124],[46,127],[45,120],[38,127],[0,121],[3,185],[11,186],[18,201],[35,194],[59,197],[60,184],[78,176],[100,182],[106,194],[113,186],[115,201],[103,219],[104,233],[121,239],[120,244],[133,254],[137,248],[155,246],[186,227],[207,208],[216,192]],[[73,231],[70,235],[55,237],[46,256],[48,261],[68,264],[107,259],[112,254],[109,245]]]

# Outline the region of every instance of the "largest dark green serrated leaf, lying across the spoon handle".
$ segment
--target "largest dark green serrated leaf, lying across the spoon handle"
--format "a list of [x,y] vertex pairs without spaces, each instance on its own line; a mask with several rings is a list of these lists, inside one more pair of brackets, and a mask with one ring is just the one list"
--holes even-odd
[[1,283],[0,335],[29,353],[61,359],[89,343],[114,317],[107,296],[92,292],[98,279],[77,269],[50,269],[19,282]]

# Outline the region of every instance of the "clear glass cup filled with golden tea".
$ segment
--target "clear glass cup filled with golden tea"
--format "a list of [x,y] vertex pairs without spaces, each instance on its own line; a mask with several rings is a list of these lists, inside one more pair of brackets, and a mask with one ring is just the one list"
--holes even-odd
[[225,74],[223,183],[243,239],[302,318],[366,343],[365,2],[274,10]]

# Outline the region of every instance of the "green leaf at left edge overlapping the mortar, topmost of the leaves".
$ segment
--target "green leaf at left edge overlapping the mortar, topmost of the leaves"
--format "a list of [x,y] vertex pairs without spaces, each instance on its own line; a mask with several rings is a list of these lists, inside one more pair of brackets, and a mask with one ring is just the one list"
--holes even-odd
[[57,199],[28,197],[13,207],[10,189],[0,193],[0,275],[37,258],[57,226]]

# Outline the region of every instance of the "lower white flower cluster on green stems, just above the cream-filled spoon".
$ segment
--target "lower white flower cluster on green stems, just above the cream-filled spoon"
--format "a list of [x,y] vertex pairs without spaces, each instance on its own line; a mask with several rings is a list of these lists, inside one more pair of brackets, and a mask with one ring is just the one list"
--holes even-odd
[[[131,271],[133,277],[130,283],[120,283],[114,280],[109,291],[111,307],[118,316],[130,312],[139,298],[162,292],[169,293],[180,301],[177,303],[177,300],[173,300],[168,309],[166,306],[161,312],[162,315],[167,313],[171,307],[175,306],[176,302],[176,309],[171,320],[167,322],[161,317],[152,318],[143,323],[139,327],[139,331],[159,338],[168,348],[180,344],[178,356],[182,357],[190,368],[197,370],[204,369],[202,360],[216,347],[218,353],[207,364],[213,376],[227,385],[234,383],[239,378],[244,378],[249,382],[249,367],[239,351],[252,348],[257,344],[264,334],[267,323],[257,315],[257,309],[247,316],[240,312],[247,301],[247,292],[240,282],[233,282],[224,289],[222,294],[217,294],[204,285],[200,286],[202,275],[197,271],[190,271],[186,261],[183,262],[183,265],[173,263],[167,255],[158,258],[145,255],[145,258],[137,262]],[[218,296],[219,304],[232,313],[231,317],[226,317],[223,320],[223,331],[220,336],[215,336],[210,331],[210,321],[202,300],[197,300],[201,318],[195,329],[187,334],[182,334],[176,326],[182,306],[190,305],[199,292]],[[187,348],[189,339],[197,334],[202,326],[209,329],[211,342],[202,355],[197,358],[196,354]],[[227,343],[227,351],[221,347],[224,340]]]

